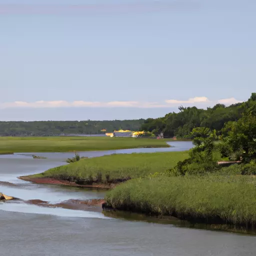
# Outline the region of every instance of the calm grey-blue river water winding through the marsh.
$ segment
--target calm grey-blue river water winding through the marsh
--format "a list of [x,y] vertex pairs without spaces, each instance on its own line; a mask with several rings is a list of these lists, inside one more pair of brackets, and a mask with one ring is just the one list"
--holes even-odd
[[[143,148],[83,152],[93,157],[110,153],[184,150],[189,141],[171,142],[172,148]],[[38,155],[38,153],[36,153]],[[42,153],[0,156],[0,191],[22,199],[52,203],[67,199],[103,198],[104,191],[40,185],[17,179],[65,164],[71,153]],[[11,183],[7,183],[11,182]],[[111,215],[110,215],[111,216]],[[100,212],[45,208],[23,202],[0,203],[0,255],[174,255],[244,256],[255,255],[256,237],[229,232],[177,227],[109,217]]]

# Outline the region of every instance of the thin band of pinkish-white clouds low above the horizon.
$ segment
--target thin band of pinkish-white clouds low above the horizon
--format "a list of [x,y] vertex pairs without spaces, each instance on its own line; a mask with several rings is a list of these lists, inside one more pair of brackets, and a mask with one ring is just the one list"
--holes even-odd
[[56,107],[137,107],[137,108],[157,108],[157,107],[171,107],[171,106],[197,106],[197,107],[207,107],[213,106],[217,103],[230,105],[234,103],[241,102],[242,100],[237,100],[235,98],[224,98],[219,100],[209,100],[205,96],[189,98],[187,100],[178,99],[166,99],[163,102],[147,102],[147,101],[66,101],[66,100],[53,100],[45,101],[39,100],[34,102],[26,101],[14,101],[14,102],[4,102],[0,103],[0,108],[56,108]]

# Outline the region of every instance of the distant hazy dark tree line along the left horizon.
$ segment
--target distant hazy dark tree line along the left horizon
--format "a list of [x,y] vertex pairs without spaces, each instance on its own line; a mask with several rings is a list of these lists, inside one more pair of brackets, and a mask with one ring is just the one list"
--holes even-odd
[[0,136],[56,136],[139,130],[144,119],[103,121],[0,121]]

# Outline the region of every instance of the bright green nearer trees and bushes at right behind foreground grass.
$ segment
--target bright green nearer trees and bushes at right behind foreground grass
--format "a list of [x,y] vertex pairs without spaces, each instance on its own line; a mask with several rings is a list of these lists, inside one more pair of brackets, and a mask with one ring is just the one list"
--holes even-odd
[[[256,174],[256,93],[235,107],[240,118],[224,122],[219,130],[205,126],[192,128],[188,136],[194,147],[189,158],[170,168],[170,174]],[[222,168],[218,163],[221,159],[239,164]]]

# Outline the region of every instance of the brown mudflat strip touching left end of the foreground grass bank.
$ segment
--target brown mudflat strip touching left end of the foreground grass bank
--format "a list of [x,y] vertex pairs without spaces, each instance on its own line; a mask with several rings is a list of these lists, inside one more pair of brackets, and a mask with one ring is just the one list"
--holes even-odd
[[29,204],[35,204],[42,207],[60,207],[65,209],[74,209],[74,210],[91,210],[91,211],[102,211],[102,203],[105,201],[103,199],[91,199],[91,200],[78,200],[78,199],[69,199],[59,203],[48,203],[47,201],[42,201],[39,199],[32,199],[24,201]]

